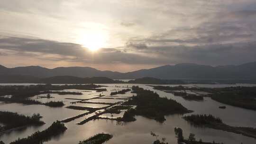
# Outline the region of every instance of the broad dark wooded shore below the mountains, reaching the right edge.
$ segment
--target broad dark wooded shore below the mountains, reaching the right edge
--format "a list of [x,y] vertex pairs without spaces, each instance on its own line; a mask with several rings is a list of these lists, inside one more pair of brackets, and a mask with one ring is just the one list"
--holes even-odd
[[[195,90],[208,92],[204,96],[209,96],[211,99],[221,103],[237,106],[241,108],[256,110],[256,87],[226,87],[226,88],[199,88],[199,87],[183,87],[183,86],[152,86],[156,90],[168,90],[166,92],[185,95],[184,93],[176,92],[175,90]],[[199,97],[194,97],[199,98]]]

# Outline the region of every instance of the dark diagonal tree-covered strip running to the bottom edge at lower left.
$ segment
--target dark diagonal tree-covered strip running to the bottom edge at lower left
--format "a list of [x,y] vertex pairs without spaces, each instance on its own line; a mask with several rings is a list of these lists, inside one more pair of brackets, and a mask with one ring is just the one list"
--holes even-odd
[[50,127],[41,132],[28,136],[27,138],[18,138],[18,140],[11,142],[10,144],[42,144],[47,140],[50,140],[52,136],[59,135],[63,133],[67,127],[60,121],[54,122]]

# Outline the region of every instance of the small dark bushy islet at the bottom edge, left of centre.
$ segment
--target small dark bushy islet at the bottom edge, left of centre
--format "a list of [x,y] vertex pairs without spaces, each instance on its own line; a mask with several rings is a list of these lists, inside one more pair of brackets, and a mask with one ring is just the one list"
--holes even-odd
[[113,135],[110,134],[97,134],[88,138],[87,140],[80,141],[79,144],[103,144],[110,140],[112,137]]

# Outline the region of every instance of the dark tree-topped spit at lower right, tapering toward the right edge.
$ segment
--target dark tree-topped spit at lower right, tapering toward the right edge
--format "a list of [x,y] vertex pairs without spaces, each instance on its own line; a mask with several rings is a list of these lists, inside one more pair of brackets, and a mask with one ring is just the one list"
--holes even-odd
[[219,117],[212,115],[191,115],[183,118],[194,126],[204,126],[256,138],[256,128],[228,126]]

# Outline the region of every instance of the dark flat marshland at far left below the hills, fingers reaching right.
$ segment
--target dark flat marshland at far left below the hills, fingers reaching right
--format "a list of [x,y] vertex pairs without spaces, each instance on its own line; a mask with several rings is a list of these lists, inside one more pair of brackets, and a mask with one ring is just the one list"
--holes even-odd
[[[25,105],[46,105],[49,107],[62,107],[64,103],[62,101],[50,101],[42,103],[35,99],[29,99],[40,94],[47,94],[47,96],[39,96],[37,98],[53,98],[49,94],[56,93],[59,95],[82,95],[81,92],[71,92],[71,91],[59,91],[68,89],[78,89],[78,90],[96,90],[97,92],[105,91],[106,89],[100,89],[101,85],[87,84],[87,85],[51,85],[51,84],[38,84],[38,85],[12,85],[12,86],[0,86],[0,101],[11,102],[11,103],[21,103]],[[56,91],[58,90],[58,91]],[[5,98],[1,96],[10,95],[10,98]]]

